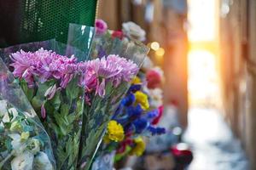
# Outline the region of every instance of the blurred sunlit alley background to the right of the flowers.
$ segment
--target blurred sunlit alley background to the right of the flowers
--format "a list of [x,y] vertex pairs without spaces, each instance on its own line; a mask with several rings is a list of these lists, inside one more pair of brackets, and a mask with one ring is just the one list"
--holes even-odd
[[165,112],[193,150],[189,169],[256,169],[255,0],[102,0],[96,18],[147,32]]

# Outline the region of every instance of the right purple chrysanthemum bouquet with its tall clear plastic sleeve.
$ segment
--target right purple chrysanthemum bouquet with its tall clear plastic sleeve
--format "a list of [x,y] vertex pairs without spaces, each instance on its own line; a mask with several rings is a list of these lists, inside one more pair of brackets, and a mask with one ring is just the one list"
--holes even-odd
[[[104,23],[101,23],[104,25]],[[99,29],[102,28],[102,29]],[[108,122],[136,77],[148,48],[141,42],[113,36],[107,25],[96,26],[88,51],[86,27],[70,25],[68,43],[88,53],[89,71],[84,77],[84,119],[79,155],[81,168],[88,169],[102,142]]]

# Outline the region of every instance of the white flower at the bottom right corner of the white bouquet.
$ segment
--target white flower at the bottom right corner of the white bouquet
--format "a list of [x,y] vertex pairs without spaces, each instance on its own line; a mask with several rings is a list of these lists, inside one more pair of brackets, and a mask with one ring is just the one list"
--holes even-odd
[[51,162],[49,161],[48,156],[42,151],[39,151],[38,155],[35,157],[34,166],[35,166],[34,168],[37,170],[53,170],[54,169],[51,165]]

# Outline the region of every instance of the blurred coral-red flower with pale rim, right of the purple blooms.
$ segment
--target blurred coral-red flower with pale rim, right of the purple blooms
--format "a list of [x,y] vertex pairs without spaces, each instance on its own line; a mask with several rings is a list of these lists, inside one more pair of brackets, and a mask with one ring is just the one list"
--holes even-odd
[[161,83],[161,75],[158,71],[150,70],[146,74],[148,88],[157,88]]

